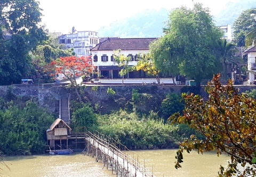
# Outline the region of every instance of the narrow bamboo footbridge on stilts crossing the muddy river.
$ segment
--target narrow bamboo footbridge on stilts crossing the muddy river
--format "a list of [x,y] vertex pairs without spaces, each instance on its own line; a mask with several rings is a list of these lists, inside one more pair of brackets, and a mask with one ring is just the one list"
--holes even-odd
[[[85,132],[85,140],[84,155],[92,154],[92,157],[95,156],[95,161],[97,162],[101,159],[103,168],[110,168],[112,174],[122,177],[154,177],[156,176],[155,174],[159,174],[153,165],[148,165],[148,168],[146,168],[145,159],[141,162],[138,154],[136,154],[137,158],[134,158],[134,155],[125,152],[129,150],[126,146],[98,131],[94,131],[94,133]],[[153,174],[153,171],[155,174]]]

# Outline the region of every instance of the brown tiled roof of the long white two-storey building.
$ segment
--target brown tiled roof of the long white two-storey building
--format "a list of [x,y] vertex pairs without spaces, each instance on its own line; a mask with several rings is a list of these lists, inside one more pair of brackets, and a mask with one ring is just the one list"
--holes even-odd
[[148,50],[149,44],[156,38],[108,38],[97,44],[91,51]]

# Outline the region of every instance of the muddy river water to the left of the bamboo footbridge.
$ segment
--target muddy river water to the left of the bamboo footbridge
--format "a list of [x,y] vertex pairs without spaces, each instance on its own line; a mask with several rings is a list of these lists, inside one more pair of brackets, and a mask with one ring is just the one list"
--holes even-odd
[[[26,177],[92,177],[115,176],[111,170],[102,170],[102,163],[95,158],[77,152],[73,155],[35,155],[5,157],[7,168],[3,168],[3,176]],[[1,168],[2,166],[0,166]]]

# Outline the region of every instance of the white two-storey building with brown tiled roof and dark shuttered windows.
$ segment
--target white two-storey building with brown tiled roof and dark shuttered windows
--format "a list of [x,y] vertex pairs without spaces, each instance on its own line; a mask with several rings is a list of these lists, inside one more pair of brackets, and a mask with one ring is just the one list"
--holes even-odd
[[[138,53],[148,53],[149,44],[156,38],[106,38],[91,49],[93,65],[97,67],[99,76],[103,78],[121,78],[118,67],[113,57],[114,50],[121,49],[127,57],[131,57],[129,66],[137,64]],[[140,78],[141,71],[132,71],[125,78]]]

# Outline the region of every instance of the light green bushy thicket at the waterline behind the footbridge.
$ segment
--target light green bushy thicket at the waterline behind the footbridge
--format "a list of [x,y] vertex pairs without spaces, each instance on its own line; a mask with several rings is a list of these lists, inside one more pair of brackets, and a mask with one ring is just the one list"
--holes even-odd
[[[129,149],[178,147],[174,130],[161,119],[141,119],[135,112],[120,110],[110,115],[99,115],[99,131],[122,142]],[[178,137],[180,138],[180,137]]]

